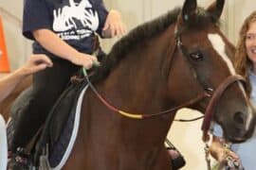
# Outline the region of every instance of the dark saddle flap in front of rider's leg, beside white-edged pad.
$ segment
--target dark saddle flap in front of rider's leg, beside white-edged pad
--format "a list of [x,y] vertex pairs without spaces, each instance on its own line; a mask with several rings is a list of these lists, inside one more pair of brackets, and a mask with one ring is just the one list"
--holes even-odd
[[[67,146],[70,140],[78,98],[86,85],[87,82],[83,80],[81,75],[72,76],[71,84],[65,89],[49,112],[34,150],[33,162],[36,166],[39,165],[40,157],[46,155],[46,152],[46,157],[49,161],[52,161],[53,166],[62,160],[64,147]],[[51,155],[56,159],[50,160]]]

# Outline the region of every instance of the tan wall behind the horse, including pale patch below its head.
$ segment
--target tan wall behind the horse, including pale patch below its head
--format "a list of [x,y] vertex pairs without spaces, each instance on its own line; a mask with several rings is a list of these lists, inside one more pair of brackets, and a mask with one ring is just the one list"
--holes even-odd
[[[161,2],[161,4],[159,4]],[[207,7],[211,0],[198,0],[198,4]],[[183,0],[105,0],[108,8],[119,9],[128,30],[151,20],[167,10],[181,5]],[[15,6],[13,6],[15,4]],[[6,42],[8,44],[9,60],[11,68],[20,66],[30,54],[30,42],[21,36],[23,1],[0,0],[0,15],[4,20]],[[225,12],[222,15],[223,30],[229,36],[231,42],[237,41],[237,34],[241,23],[250,11],[256,9],[255,0],[227,0]],[[117,39],[102,41],[103,48],[108,51]],[[181,110],[179,118],[192,118],[199,115],[192,110]],[[204,144],[201,142],[201,121],[193,123],[174,123],[169,137],[182,151],[187,160],[184,170],[205,170]]]

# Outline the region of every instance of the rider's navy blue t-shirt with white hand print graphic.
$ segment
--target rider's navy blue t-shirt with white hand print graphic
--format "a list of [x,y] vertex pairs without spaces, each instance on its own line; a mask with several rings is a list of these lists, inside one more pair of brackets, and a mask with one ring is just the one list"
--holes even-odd
[[[107,14],[102,0],[25,0],[23,35],[34,40],[32,31],[47,28],[78,51],[90,54],[95,32],[101,36]],[[33,52],[50,54],[36,41]]]

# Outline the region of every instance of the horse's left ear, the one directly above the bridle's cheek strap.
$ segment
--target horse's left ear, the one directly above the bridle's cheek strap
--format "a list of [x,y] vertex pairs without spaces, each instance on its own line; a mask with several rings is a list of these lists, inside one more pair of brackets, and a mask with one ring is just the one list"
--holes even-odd
[[185,1],[185,3],[183,4],[182,13],[181,13],[183,23],[188,22],[194,17],[196,7],[197,7],[196,0]]

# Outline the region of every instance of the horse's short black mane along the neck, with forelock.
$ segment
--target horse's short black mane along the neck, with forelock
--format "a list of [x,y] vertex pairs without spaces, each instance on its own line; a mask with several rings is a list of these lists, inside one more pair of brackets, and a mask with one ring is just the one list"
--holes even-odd
[[[92,81],[100,81],[109,75],[111,70],[115,68],[119,61],[123,59],[133,48],[139,43],[149,40],[159,32],[164,31],[168,26],[174,24],[179,15],[181,8],[174,8],[151,22],[137,26],[129,34],[116,42],[110,53],[101,61],[101,67],[95,70],[95,74],[91,77]],[[187,23],[187,27],[204,27],[209,23],[216,23],[214,16],[210,15],[205,9],[197,8],[197,15],[191,23]]]

